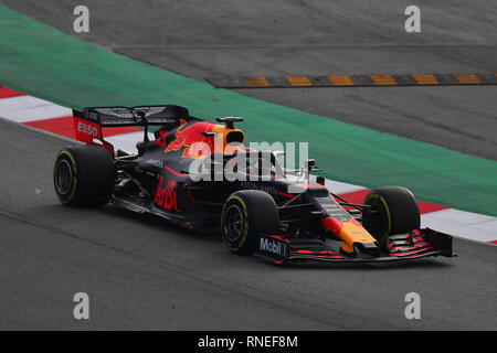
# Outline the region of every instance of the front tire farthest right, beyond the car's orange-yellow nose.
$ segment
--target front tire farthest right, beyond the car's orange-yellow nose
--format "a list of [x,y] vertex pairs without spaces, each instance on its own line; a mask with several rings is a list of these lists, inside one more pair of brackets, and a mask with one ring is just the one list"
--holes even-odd
[[364,199],[362,226],[381,244],[393,234],[419,229],[420,208],[411,191],[401,186],[371,190]]

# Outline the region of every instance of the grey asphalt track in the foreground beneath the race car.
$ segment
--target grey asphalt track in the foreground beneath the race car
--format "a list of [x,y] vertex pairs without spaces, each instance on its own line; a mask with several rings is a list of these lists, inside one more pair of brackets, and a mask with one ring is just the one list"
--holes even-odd
[[[53,159],[68,142],[0,121],[0,329],[495,329],[496,248],[403,265],[277,267],[219,236],[113,206],[61,205]],[[15,147],[15,148],[13,148]],[[89,296],[91,319],[73,318]],[[404,297],[421,296],[421,320]]]

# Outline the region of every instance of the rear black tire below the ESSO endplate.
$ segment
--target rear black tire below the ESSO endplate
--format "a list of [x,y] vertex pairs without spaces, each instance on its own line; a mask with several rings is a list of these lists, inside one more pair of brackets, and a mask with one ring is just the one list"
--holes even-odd
[[68,206],[102,206],[114,189],[114,160],[99,146],[71,146],[59,151],[53,168],[55,193]]

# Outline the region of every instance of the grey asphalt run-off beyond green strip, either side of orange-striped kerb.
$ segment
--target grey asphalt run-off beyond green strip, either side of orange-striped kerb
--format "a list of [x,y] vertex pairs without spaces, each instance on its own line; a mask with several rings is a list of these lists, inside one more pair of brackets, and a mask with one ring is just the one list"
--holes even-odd
[[[216,75],[495,73],[497,3],[417,1],[2,0],[77,38],[200,81]],[[236,89],[334,119],[497,160],[497,87]]]

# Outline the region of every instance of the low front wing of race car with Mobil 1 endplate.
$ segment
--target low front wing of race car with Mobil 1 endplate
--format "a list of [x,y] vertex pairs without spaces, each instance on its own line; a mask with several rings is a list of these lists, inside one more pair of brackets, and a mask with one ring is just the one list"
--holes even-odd
[[335,252],[325,242],[310,238],[284,238],[278,235],[261,235],[255,256],[274,264],[299,260],[328,263],[384,263],[417,259],[427,256],[452,257],[452,236],[430,228],[389,237],[380,256],[358,254],[347,256]]

